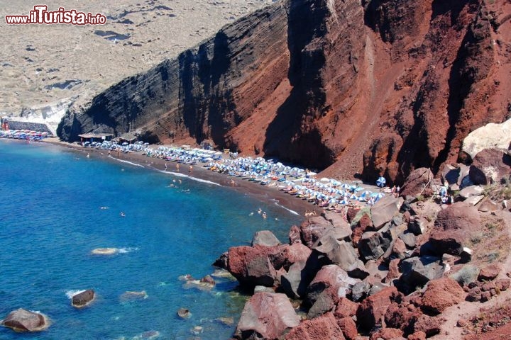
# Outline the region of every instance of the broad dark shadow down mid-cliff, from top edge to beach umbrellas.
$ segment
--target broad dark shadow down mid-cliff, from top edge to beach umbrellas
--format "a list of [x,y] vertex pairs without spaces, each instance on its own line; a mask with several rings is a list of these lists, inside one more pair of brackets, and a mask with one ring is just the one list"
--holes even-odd
[[[325,6],[314,1],[295,1],[287,14],[287,48],[290,67],[287,77],[292,90],[268,125],[263,149],[268,157],[324,169],[333,164],[334,154],[315,128],[326,101],[322,69],[326,56],[322,39],[327,32]],[[319,114],[318,114],[319,113]]]

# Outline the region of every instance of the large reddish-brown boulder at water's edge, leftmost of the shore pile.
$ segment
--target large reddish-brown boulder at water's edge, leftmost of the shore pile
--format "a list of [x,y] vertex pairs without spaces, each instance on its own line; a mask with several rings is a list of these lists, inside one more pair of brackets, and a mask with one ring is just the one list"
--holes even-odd
[[229,249],[227,270],[241,285],[272,287],[277,273],[264,247],[234,246]]

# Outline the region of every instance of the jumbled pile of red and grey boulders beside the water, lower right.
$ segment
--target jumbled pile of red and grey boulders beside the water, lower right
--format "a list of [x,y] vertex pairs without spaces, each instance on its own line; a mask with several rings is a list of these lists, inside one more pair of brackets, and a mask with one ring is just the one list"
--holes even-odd
[[[447,166],[436,179],[429,169],[417,169],[399,198],[350,208],[345,216],[323,212],[292,226],[284,244],[264,231],[251,246],[231,247],[215,265],[254,292],[234,338],[478,334],[466,320],[511,297],[511,212],[495,196],[511,185],[508,169],[502,183],[475,186],[469,173],[476,169]],[[456,188],[458,181],[464,192],[452,190],[456,201],[442,204],[441,184]]]

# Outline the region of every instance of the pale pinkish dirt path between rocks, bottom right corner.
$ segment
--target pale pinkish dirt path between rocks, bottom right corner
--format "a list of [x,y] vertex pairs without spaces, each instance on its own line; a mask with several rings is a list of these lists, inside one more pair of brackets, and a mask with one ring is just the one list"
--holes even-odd
[[[511,212],[507,212],[505,210],[498,210],[495,212],[505,223],[505,230],[511,237]],[[501,263],[502,270],[498,278],[507,278],[506,273],[511,271],[511,254],[507,255],[506,261]],[[441,325],[440,334],[433,336],[429,339],[434,340],[454,340],[454,339],[464,339],[465,334],[463,334],[463,327],[457,327],[457,323],[459,319],[471,319],[471,317],[475,317],[479,314],[481,309],[493,309],[502,304],[508,303],[507,300],[511,299],[511,289],[505,290],[499,295],[495,295],[491,300],[487,302],[461,302],[458,305],[454,305],[452,307],[447,308],[444,313],[441,314],[441,317],[444,317],[445,322]],[[502,329],[502,331],[504,331]],[[498,330],[496,331],[498,332]],[[504,331],[505,332],[505,331]],[[509,334],[503,334],[504,337],[499,339],[510,339]]]

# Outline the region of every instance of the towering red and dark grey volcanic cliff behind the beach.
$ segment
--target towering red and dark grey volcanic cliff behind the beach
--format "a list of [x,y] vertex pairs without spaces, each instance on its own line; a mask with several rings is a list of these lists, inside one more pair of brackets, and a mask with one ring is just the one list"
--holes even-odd
[[209,140],[402,181],[509,118],[511,4],[287,0],[72,108],[58,133]]

